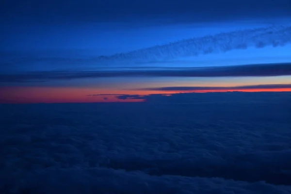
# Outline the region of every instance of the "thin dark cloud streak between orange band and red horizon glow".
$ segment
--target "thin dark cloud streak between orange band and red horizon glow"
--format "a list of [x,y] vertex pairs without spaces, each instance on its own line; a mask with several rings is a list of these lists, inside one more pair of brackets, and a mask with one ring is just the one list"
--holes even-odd
[[174,87],[158,87],[158,88],[144,88],[137,90],[150,90],[150,91],[194,91],[194,90],[243,90],[243,89],[283,89],[290,88],[291,84],[264,84],[264,85],[242,85],[232,87],[206,87],[206,86],[174,86]]

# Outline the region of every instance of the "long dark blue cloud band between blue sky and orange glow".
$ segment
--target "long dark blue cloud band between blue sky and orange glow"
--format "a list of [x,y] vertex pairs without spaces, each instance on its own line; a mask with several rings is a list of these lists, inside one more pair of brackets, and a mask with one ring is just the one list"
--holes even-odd
[[110,77],[259,77],[291,75],[291,63],[127,71],[44,71],[0,74],[0,82],[30,82]]

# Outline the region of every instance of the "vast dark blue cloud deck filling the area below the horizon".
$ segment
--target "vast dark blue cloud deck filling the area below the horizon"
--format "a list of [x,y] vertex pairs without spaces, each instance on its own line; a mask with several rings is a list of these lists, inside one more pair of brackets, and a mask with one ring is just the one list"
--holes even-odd
[[176,96],[0,105],[1,193],[290,193],[290,93]]

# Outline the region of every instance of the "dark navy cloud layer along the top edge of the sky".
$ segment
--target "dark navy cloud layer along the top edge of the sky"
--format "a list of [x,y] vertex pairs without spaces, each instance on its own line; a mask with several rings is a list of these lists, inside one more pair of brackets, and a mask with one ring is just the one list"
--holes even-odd
[[2,20],[47,24],[290,16],[290,0],[4,0]]

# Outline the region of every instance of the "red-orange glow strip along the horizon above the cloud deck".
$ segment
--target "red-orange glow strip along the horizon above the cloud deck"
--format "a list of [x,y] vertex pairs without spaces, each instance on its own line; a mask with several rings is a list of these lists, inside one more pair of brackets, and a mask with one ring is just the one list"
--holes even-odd
[[282,89],[243,89],[243,90],[196,90],[196,91],[129,91],[99,90],[94,88],[65,87],[1,87],[0,103],[85,103],[85,102],[142,102],[143,99],[118,99],[116,96],[88,96],[96,94],[177,94],[207,92],[291,92],[291,88]]

